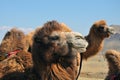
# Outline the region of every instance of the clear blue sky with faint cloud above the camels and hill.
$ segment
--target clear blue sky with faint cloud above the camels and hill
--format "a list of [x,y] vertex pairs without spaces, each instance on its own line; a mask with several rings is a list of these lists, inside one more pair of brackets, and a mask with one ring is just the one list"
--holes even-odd
[[87,35],[101,19],[120,25],[120,0],[0,0],[0,41],[13,27],[29,33],[51,20]]

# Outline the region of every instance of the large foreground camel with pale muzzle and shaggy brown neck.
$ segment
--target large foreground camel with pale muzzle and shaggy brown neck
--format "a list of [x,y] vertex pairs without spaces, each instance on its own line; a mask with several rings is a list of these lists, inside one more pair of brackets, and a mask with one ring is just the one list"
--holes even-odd
[[81,34],[64,30],[57,21],[47,22],[33,35],[33,67],[7,73],[1,80],[75,80],[77,56],[86,51],[87,45]]

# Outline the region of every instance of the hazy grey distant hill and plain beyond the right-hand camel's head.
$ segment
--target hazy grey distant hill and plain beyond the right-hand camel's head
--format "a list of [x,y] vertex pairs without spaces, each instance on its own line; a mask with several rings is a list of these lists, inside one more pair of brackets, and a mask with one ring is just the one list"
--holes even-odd
[[115,49],[120,51],[120,25],[110,25],[115,29],[115,34],[105,40],[103,51]]

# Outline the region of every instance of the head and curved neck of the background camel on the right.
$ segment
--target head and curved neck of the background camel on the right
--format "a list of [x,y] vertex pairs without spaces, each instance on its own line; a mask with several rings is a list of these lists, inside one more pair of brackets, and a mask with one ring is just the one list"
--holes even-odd
[[113,33],[113,29],[107,26],[106,21],[95,22],[85,37],[89,45],[86,52],[83,53],[83,59],[96,55],[103,48],[104,39],[108,38],[111,33]]

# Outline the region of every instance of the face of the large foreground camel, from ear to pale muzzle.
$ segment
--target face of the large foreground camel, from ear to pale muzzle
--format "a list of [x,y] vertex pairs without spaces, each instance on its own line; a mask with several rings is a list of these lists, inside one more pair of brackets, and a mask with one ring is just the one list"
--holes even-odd
[[66,55],[69,47],[76,49],[79,52],[85,52],[88,45],[84,37],[78,32],[59,32],[54,31],[47,37],[35,38],[36,45],[42,45],[49,49],[52,47],[54,54]]

